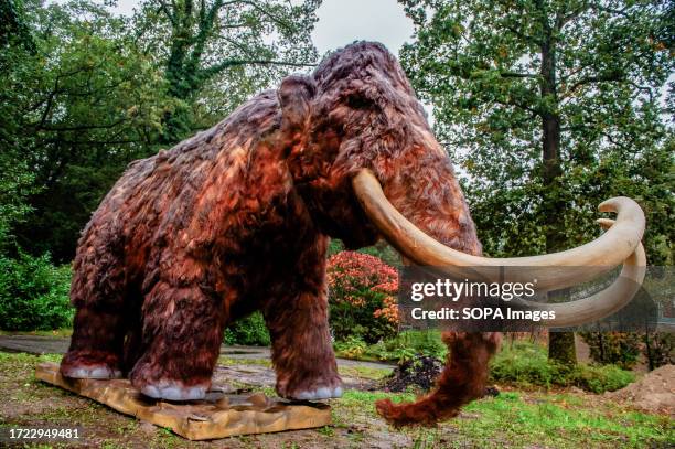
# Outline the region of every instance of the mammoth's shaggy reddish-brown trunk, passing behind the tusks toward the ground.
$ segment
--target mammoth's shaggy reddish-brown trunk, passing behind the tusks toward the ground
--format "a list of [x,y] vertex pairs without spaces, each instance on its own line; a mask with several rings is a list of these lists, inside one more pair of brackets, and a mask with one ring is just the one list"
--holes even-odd
[[[411,151],[411,156],[416,153],[415,165],[400,170],[395,181],[385,184],[386,197],[436,240],[480,256],[481,244],[469,207],[450,161],[441,151],[439,147],[431,151],[426,148],[420,153]],[[396,238],[387,237],[398,247]],[[483,395],[489,362],[499,346],[501,334],[446,332],[442,340],[448,345],[448,357],[430,394],[409,404],[393,404],[389,399],[376,403],[377,411],[390,424],[433,425],[456,416],[463,405]]]

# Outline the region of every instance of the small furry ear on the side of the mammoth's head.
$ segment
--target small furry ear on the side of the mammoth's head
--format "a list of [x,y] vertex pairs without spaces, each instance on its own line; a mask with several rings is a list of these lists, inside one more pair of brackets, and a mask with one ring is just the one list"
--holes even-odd
[[281,106],[281,129],[304,128],[310,114],[310,101],[317,93],[317,84],[309,76],[291,75],[281,82],[277,96]]

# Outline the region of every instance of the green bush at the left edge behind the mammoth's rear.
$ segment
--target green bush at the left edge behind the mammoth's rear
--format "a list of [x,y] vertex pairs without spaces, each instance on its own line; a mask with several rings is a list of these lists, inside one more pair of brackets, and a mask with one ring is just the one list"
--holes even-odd
[[0,327],[44,331],[73,324],[71,267],[55,267],[49,255],[0,256]]

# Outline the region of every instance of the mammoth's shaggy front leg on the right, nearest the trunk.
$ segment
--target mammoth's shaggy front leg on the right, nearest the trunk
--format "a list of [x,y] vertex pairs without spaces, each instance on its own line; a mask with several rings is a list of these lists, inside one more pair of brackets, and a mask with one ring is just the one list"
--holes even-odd
[[291,399],[342,396],[323,285],[275,298],[265,310],[277,393]]

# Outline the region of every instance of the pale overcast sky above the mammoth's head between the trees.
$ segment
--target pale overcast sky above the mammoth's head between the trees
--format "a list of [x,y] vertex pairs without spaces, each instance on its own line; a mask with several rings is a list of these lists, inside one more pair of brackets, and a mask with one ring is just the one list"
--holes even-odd
[[[130,14],[140,0],[118,0],[115,11]],[[312,33],[319,54],[356,40],[379,41],[398,55],[413,22],[396,0],[323,0]]]

